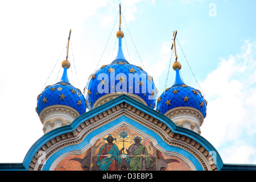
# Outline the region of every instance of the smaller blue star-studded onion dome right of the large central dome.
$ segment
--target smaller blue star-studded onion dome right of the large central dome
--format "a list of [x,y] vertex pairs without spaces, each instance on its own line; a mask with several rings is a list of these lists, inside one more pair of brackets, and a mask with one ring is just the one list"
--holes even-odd
[[176,61],[173,68],[176,72],[174,85],[171,88],[167,88],[158,98],[156,110],[165,114],[175,107],[187,106],[199,110],[205,118],[207,101],[202,96],[200,90],[184,84],[180,77],[181,65],[179,62]]

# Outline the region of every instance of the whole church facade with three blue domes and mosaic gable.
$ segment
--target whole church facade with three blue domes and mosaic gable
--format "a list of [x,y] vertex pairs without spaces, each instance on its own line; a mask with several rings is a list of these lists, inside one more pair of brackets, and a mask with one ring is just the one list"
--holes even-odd
[[181,79],[177,59],[174,84],[158,96],[152,76],[125,59],[123,36],[119,27],[117,57],[90,75],[84,93],[69,82],[70,63],[63,61],[60,81],[37,98],[43,137],[23,163],[0,163],[0,170],[255,170],[253,164],[224,164],[200,135],[207,100]]

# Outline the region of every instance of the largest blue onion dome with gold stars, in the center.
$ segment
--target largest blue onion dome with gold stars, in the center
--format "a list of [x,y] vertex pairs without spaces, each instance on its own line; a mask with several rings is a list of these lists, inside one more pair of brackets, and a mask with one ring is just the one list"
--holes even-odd
[[[114,61],[108,65],[102,65],[100,69],[89,76],[85,86],[86,103],[88,109],[96,107],[94,104],[102,96],[110,94],[129,94],[138,96],[147,106],[154,108],[157,89],[154,81],[141,67],[130,64],[123,55],[123,32],[117,32],[118,53]],[[135,95],[135,96],[134,96]],[[94,106],[94,107],[93,107]]]

